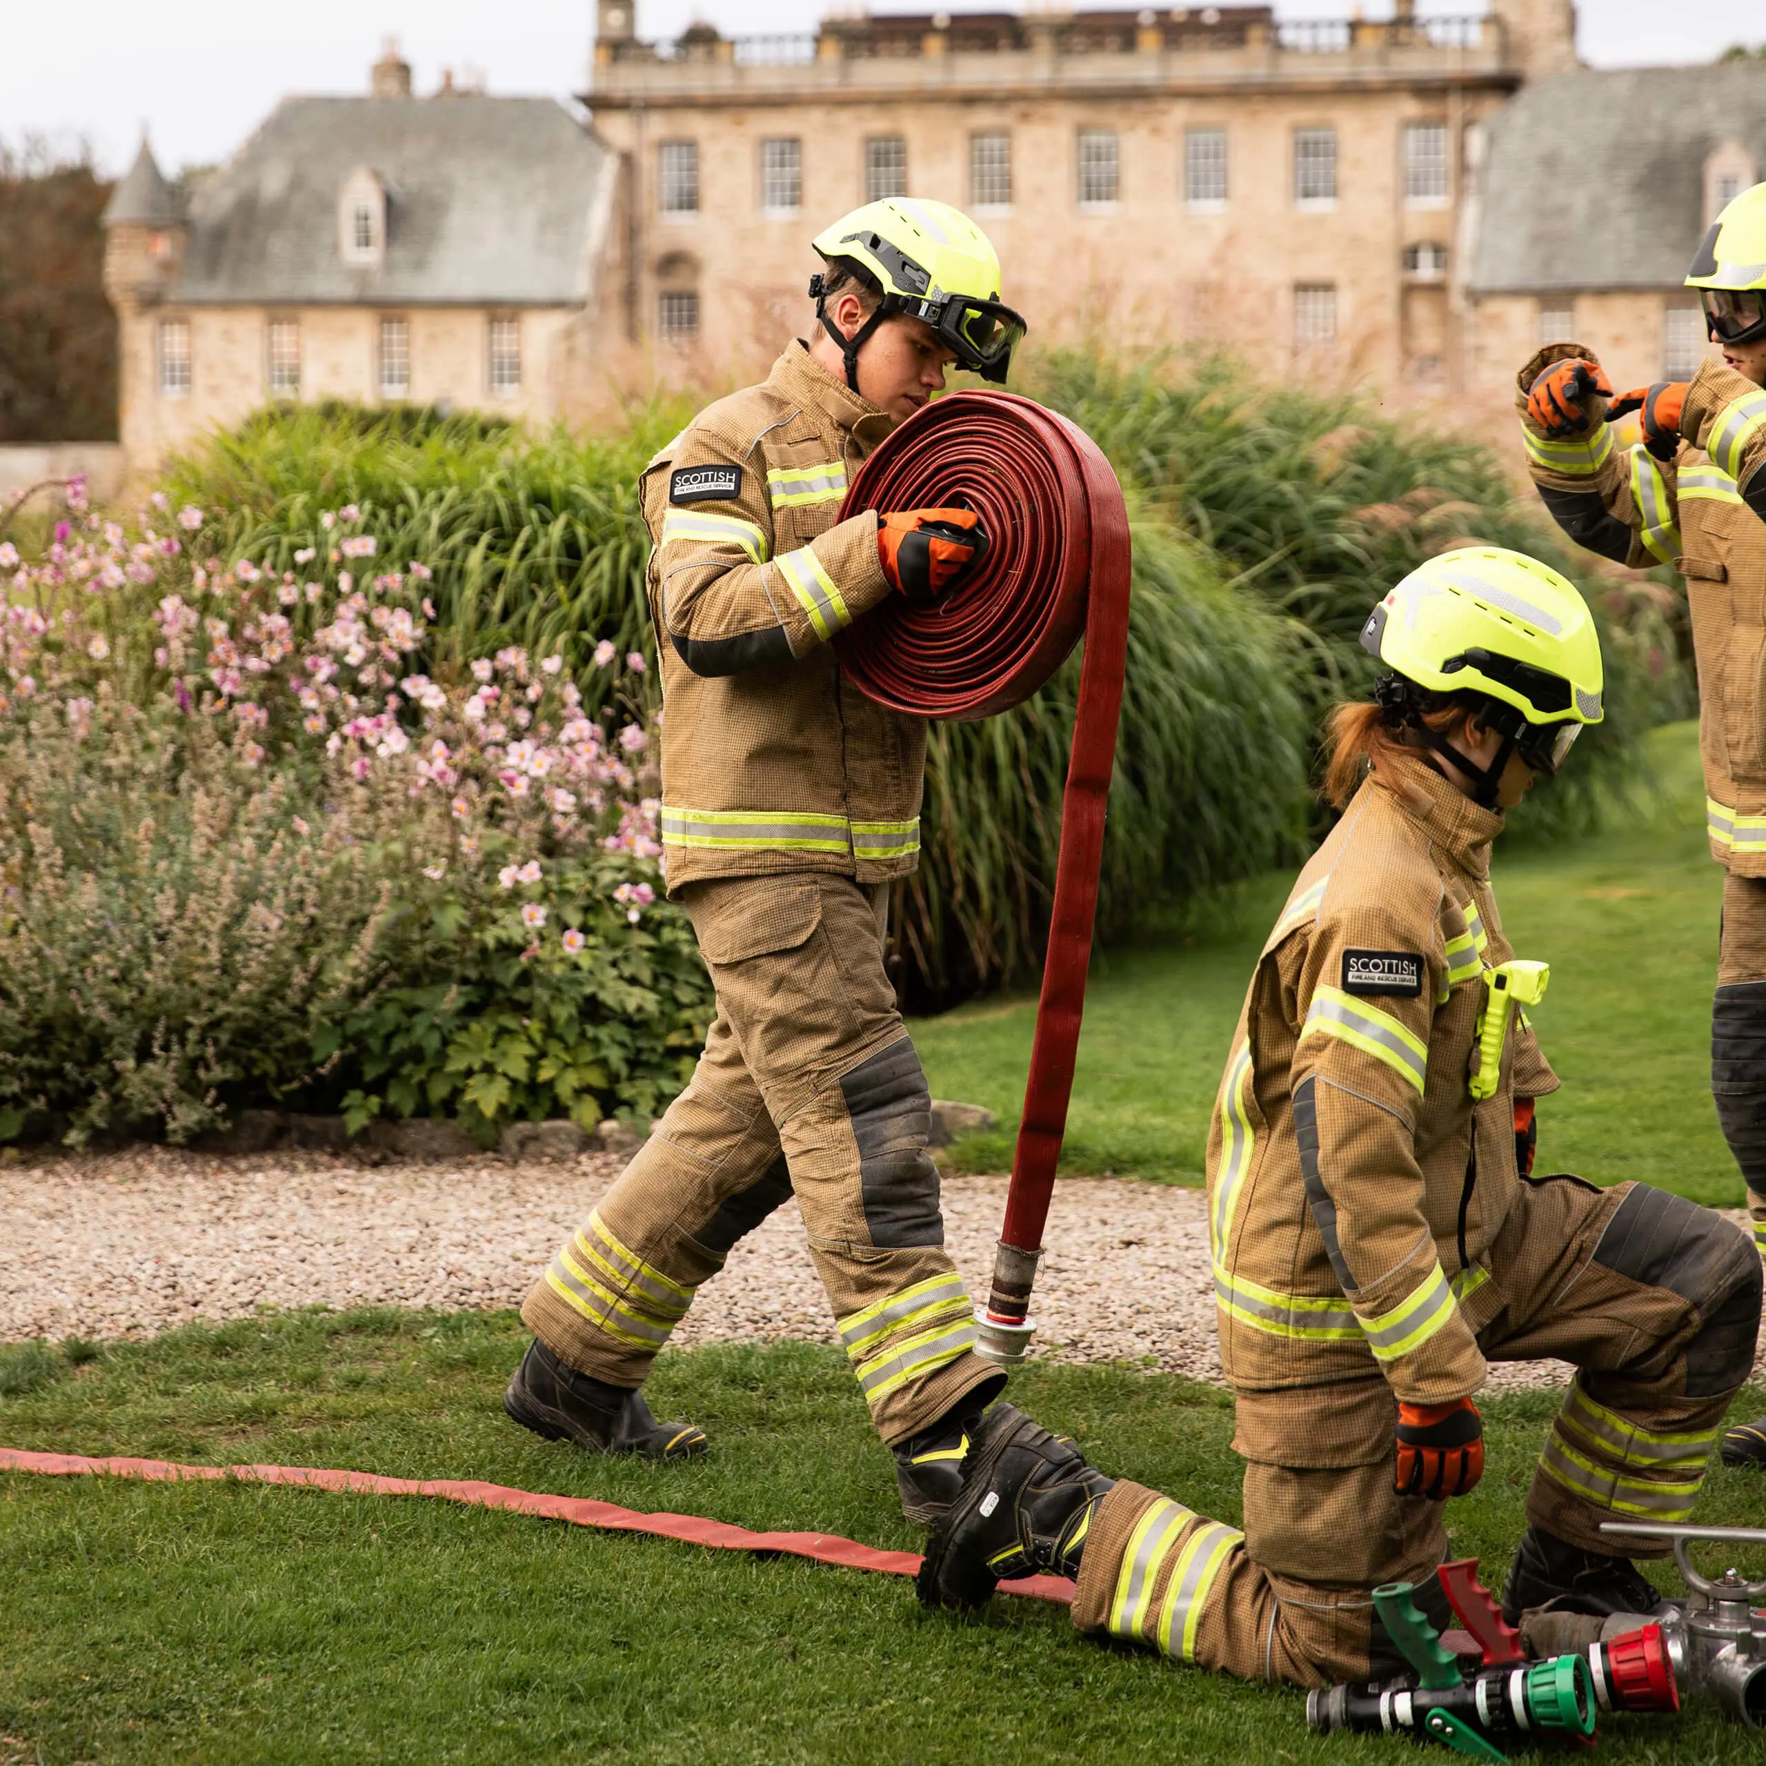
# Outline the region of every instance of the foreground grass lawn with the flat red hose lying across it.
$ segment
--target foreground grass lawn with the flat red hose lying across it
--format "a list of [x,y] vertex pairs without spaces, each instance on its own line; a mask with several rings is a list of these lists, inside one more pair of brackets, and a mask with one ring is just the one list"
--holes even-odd
[[[0,1439],[489,1478],[917,1543],[835,1351],[664,1356],[660,1415],[703,1422],[715,1453],[657,1468],[512,1429],[498,1397],[521,1340],[510,1314],[191,1328],[0,1400]],[[1030,1369],[1015,1386],[1100,1464],[1238,1517],[1220,1393],[1120,1369]],[[1543,1395],[1489,1406],[1491,1471],[1455,1505],[1453,1540],[1492,1577],[1549,1413]],[[1759,1489],[1718,1469],[1704,1513],[1757,1521]],[[0,1476],[0,1736],[48,1766],[1409,1757],[1314,1741],[1298,1695],[1083,1641],[1040,1602],[959,1623],[894,1577],[447,1503]],[[1713,1715],[1611,1731],[1614,1762],[1759,1759]]]

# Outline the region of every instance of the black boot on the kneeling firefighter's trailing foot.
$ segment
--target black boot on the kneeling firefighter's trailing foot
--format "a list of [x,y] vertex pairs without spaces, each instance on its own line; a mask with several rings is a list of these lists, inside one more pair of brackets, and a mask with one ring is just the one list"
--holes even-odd
[[915,1582],[927,1607],[984,1607],[1021,1575],[1079,1575],[1091,1513],[1114,1487],[1079,1448],[1010,1404],[970,1439],[962,1491],[925,1547]]

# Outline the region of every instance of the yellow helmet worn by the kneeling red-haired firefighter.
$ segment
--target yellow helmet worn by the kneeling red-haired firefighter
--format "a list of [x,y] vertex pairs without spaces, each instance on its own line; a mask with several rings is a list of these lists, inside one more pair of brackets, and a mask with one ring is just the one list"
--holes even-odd
[[[1600,634],[1575,585],[1499,546],[1462,546],[1418,565],[1362,627],[1362,648],[1388,669],[1374,683],[1386,721],[1411,728],[1476,781],[1494,807],[1508,756],[1556,777],[1584,724],[1598,724]],[[1496,761],[1473,765],[1422,713],[1473,694],[1503,735]]]

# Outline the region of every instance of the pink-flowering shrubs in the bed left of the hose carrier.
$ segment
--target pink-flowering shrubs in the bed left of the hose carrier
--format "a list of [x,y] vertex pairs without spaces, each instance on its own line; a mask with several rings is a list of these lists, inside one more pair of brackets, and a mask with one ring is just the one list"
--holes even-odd
[[[162,498],[0,544],[0,1137],[247,1102],[653,1109],[710,1017],[660,895],[643,657],[431,675],[420,560],[350,507],[298,570]],[[191,556],[191,547],[196,556]],[[374,569],[378,565],[378,569]]]

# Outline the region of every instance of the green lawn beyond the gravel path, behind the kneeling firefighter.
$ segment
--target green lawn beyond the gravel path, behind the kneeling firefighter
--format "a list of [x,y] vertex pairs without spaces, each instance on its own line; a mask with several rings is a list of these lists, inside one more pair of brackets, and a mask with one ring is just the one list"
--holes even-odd
[[[1704,841],[1694,726],[1660,731],[1653,758],[1664,800],[1648,821],[1556,851],[1496,846],[1510,941],[1552,966],[1533,1019],[1563,1091],[1540,1106],[1540,1162],[1740,1206],[1709,1093],[1722,871]],[[1098,957],[1063,1169],[1203,1181],[1227,1042],[1289,883],[1245,888],[1206,941]],[[1014,996],[913,1026],[932,1095],[985,1104],[1001,1121],[955,1148],[957,1169],[1010,1166],[1035,1015],[1033,996]]]

